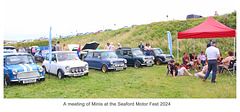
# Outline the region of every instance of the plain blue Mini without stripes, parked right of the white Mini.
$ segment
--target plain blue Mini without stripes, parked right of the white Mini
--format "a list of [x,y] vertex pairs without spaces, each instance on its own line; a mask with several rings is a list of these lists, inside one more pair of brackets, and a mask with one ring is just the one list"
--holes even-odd
[[102,72],[108,70],[124,70],[127,60],[118,58],[114,51],[89,50],[84,61],[88,62],[89,68],[100,69]]

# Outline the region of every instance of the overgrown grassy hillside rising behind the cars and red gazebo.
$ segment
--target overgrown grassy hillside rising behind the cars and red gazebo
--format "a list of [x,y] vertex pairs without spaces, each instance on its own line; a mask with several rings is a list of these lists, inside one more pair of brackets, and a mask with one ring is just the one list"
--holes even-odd
[[[173,20],[165,22],[153,22],[151,24],[140,25],[132,28],[122,28],[115,31],[106,31],[98,34],[90,34],[83,36],[76,36],[70,38],[61,38],[53,40],[53,43],[60,41],[61,43],[79,44],[85,45],[85,43],[96,41],[100,42],[100,49],[103,48],[107,42],[113,42],[116,46],[117,43],[121,43],[123,47],[137,47],[139,41],[144,43],[150,42],[153,47],[159,47],[164,52],[169,53],[167,43],[167,31],[171,32],[173,41],[173,54],[176,57],[177,54],[177,33],[184,30],[195,27],[204,22],[208,17],[190,20]],[[225,14],[221,16],[213,17],[224,25],[236,29],[236,12],[231,14]],[[218,42],[217,47],[220,49],[221,54],[226,56],[229,50],[234,49],[234,38],[214,38]],[[199,54],[201,50],[206,49],[206,45],[209,39],[195,39],[195,52]],[[48,41],[36,41],[29,43],[17,43],[13,44],[15,47],[19,46],[47,46]],[[183,52],[193,52],[193,39],[181,39],[179,40],[180,57]],[[62,44],[61,44],[62,46]]]

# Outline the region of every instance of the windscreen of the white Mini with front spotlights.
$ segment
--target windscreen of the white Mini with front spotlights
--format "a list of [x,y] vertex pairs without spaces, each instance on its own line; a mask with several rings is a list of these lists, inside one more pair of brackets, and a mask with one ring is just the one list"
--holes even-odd
[[59,53],[57,55],[58,61],[67,61],[67,60],[77,60],[78,55],[77,53]]

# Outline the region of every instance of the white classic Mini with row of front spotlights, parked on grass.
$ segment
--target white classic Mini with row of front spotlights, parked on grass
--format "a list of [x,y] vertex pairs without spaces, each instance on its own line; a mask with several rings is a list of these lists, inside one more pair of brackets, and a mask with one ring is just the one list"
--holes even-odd
[[43,61],[43,69],[47,73],[58,76],[59,79],[65,76],[88,76],[88,63],[81,61],[74,51],[54,51],[51,56],[47,54]]

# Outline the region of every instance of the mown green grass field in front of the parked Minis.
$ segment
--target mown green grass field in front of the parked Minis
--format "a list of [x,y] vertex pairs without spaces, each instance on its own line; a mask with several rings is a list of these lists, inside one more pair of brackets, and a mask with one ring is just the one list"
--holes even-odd
[[90,69],[89,76],[62,80],[45,77],[44,82],[4,87],[4,98],[236,98],[236,76],[227,71],[217,76],[217,84],[166,76],[166,65],[108,73]]

